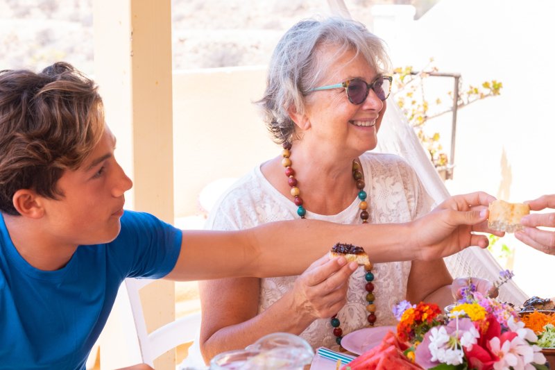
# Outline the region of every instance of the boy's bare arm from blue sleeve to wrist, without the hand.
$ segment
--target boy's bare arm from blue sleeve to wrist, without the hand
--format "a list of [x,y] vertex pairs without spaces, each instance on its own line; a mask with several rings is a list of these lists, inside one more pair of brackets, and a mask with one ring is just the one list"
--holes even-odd
[[370,262],[412,260],[410,224],[343,225],[280,221],[240,231],[183,232],[171,280],[298,275],[337,242],[362,246]]

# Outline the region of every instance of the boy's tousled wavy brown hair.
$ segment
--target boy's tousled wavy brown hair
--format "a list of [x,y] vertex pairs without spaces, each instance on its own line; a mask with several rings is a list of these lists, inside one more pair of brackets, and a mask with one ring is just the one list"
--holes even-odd
[[19,215],[17,190],[59,199],[56,183],[77,169],[104,131],[94,81],[66,62],[40,73],[0,71],[0,212]]

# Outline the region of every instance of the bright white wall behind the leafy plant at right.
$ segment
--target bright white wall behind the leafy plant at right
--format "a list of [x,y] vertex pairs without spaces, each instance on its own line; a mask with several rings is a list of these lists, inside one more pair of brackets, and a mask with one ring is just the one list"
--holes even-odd
[[[553,1],[443,0],[391,44],[395,65],[418,69],[433,57],[465,83],[504,85],[500,96],[459,110],[452,194],[484,190],[520,202],[555,193],[554,14]],[[500,242],[515,247],[514,279],[525,292],[555,296],[554,256],[512,235]]]

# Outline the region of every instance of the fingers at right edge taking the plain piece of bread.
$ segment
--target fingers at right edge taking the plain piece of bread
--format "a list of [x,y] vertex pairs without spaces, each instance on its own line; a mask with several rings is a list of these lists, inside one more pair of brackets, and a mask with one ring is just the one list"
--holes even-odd
[[[555,194],[540,196],[533,201],[526,201],[533,211],[555,208]],[[543,253],[555,255],[555,232],[553,230],[540,230],[538,226],[555,228],[555,213],[540,213],[522,217],[520,223],[527,226],[522,231],[515,233],[515,237]]]

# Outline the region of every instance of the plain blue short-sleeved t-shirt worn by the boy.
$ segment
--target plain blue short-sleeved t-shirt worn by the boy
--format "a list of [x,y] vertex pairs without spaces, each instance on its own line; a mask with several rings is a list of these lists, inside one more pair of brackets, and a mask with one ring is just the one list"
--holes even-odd
[[42,271],[19,255],[0,213],[0,369],[85,369],[123,279],[166,276],[181,238],[126,211],[113,242],[78,246],[65,267]]

